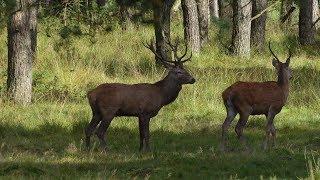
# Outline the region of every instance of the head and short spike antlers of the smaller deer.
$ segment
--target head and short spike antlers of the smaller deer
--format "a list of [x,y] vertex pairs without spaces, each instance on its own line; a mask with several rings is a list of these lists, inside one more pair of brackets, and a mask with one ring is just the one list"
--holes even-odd
[[272,65],[277,69],[278,76],[282,75],[286,79],[291,79],[292,78],[292,73],[291,73],[291,69],[289,67],[290,59],[291,59],[291,56],[292,56],[291,50],[288,49],[288,51],[289,51],[288,58],[287,58],[285,63],[282,63],[279,60],[279,58],[275,55],[275,53],[272,51],[270,42],[269,42],[269,50],[270,50],[271,54],[273,55]]

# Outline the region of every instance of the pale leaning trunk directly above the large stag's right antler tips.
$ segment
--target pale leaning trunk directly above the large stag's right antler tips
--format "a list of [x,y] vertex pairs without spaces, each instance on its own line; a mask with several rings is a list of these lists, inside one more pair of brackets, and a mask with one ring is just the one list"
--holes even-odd
[[185,39],[192,52],[199,53],[201,47],[198,10],[195,0],[182,0],[183,24]]

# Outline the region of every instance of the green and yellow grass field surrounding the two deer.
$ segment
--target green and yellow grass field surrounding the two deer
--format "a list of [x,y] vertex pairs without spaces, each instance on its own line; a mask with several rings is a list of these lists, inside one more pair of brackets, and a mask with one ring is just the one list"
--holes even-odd
[[[6,100],[6,35],[0,34],[0,177],[320,179],[319,49],[289,44],[295,53],[290,97],[275,119],[277,142],[271,150],[261,149],[263,116],[251,117],[245,129],[252,153],[240,147],[236,122],[229,130],[232,151],[218,150],[226,115],[221,92],[239,80],[274,80],[275,70],[267,52],[248,59],[221,52],[212,29],[210,43],[188,64],[197,83],[185,86],[151,121],[151,153],[138,151],[134,118],[114,119],[107,132],[107,152],[98,148],[97,139],[86,151],[84,127],[91,119],[87,90],[103,82],[155,82],[165,75],[141,43],[152,37],[152,29],[68,40],[56,34],[49,38],[43,29],[34,65],[34,103],[28,107]],[[179,25],[173,29],[182,34]],[[267,34],[284,59],[288,39],[272,28]]]

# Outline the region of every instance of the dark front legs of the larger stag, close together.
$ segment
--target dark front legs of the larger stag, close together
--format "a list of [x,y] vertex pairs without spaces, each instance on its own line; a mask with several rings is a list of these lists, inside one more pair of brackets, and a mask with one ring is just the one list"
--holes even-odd
[[150,145],[150,130],[149,130],[150,118],[139,117],[139,131],[140,131],[140,151],[149,152]]

